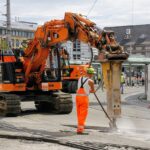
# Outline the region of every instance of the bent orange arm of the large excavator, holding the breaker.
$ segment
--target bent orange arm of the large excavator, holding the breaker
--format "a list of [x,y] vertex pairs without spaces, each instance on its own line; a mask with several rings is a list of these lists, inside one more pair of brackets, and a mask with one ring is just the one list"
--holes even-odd
[[[63,20],[52,20],[37,28],[33,40],[28,43],[24,55],[25,80],[28,82],[31,76],[40,82],[40,76],[44,70],[45,61],[52,47],[58,43],[76,39],[90,44],[104,54],[111,53],[107,48],[111,47],[109,34],[96,27],[96,24],[82,15],[65,13]],[[113,45],[114,46],[114,45]],[[123,51],[119,51],[122,53]],[[118,49],[113,51],[118,53]]]

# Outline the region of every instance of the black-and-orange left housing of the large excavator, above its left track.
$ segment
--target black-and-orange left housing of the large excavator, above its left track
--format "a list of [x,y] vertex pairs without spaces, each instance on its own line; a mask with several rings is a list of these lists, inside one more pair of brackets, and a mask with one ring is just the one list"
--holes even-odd
[[[12,50],[0,51],[0,91],[25,91],[23,64]],[[22,86],[18,86],[22,84]]]

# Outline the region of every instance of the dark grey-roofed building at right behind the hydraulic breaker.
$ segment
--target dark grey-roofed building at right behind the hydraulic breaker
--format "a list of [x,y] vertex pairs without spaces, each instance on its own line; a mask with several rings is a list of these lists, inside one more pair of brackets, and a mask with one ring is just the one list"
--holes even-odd
[[130,55],[150,57],[150,24],[106,27],[113,30],[117,41]]

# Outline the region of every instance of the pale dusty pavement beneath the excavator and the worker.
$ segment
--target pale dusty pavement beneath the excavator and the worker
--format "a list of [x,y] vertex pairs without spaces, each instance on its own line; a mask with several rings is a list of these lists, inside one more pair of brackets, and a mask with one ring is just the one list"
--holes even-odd
[[[87,142],[95,143],[94,145],[112,144],[112,147],[119,146],[118,149],[136,149],[136,147],[150,149],[150,109],[147,108],[149,102],[138,100],[143,91],[144,87],[125,88],[125,94],[122,95],[122,115],[117,119],[117,131],[110,131],[109,120],[94,96],[90,95],[89,114],[86,122],[86,130],[89,135],[76,135],[75,103],[69,115],[54,115],[38,113],[33,102],[23,102],[20,116],[0,119],[0,149],[75,149],[57,144],[57,140],[61,143],[70,141],[86,143],[86,145]],[[105,91],[99,89],[97,95],[106,108]],[[73,101],[74,97],[75,95],[73,95]],[[24,138],[19,139],[18,137],[21,136]],[[35,137],[36,140],[29,140],[27,137]],[[39,137],[44,137],[48,141],[37,140]],[[54,141],[50,142],[49,140],[52,139]],[[112,147],[105,146],[105,149],[113,149]]]

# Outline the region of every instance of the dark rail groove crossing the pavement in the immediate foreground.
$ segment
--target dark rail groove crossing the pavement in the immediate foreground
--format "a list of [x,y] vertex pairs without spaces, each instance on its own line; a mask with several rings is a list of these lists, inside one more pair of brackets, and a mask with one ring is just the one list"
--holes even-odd
[[0,138],[6,139],[18,139],[18,140],[27,140],[27,141],[36,141],[36,142],[47,142],[59,144],[67,147],[77,148],[81,150],[149,150],[149,148],[141,148],[129,145],[118,145],[118,144],[109,144],[109,143],[93,143],[93,142],[74,142],[68,140],[61,140],[54,137],[37,137],[37,136],[23,136],[23,135],[7,135],[0,134]]

